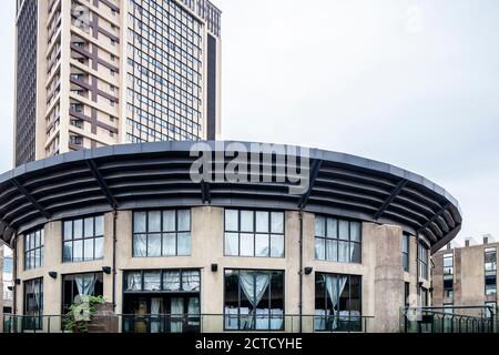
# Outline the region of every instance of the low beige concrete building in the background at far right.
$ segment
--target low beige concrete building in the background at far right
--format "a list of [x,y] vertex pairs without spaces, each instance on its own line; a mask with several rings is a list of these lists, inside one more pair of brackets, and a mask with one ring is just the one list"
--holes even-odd
[[[489,295],[486,294],[485,255],[486,250],[495,250],[497,253],[498,246],[499,243],[492,242],[479,245],[466,245],[464,247],[449,246],[432,255],[432,263],[435,265],[432,268],[432,305],[483,306],[486,303],[495,303],[497,305],[497,292]],[[448,276],[452,280],[452,294],[445,292],[444,257],[454,261],[454,273],[451,276]],[[495,268],[497,281],[497,266]],[[491,271],[491,273],[493,274],[493,271]],[[468,310],[466,312],[470,315],[482,315],[482,310]]]

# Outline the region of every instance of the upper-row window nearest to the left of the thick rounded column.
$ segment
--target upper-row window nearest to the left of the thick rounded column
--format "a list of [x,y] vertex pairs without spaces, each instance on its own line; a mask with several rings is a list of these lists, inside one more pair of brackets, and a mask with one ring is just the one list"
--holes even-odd
[[315,258],[337,263],[360,263],[360,222],[316,216]]

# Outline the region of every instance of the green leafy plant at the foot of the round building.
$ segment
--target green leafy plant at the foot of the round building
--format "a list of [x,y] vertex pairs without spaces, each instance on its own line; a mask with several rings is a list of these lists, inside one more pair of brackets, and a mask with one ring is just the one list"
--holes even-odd
[[73,333],[89,333],[86,324],[92,320],[99,304],[105,303],[103,296],[83,296],[69,307],[64,315],[64,329]]

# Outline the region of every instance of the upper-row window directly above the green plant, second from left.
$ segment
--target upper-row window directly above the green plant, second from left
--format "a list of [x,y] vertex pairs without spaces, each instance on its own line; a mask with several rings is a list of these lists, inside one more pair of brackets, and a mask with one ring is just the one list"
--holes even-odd
[[63,261],[70,263],[101,260],[104,256],[104,216],[63,223]]

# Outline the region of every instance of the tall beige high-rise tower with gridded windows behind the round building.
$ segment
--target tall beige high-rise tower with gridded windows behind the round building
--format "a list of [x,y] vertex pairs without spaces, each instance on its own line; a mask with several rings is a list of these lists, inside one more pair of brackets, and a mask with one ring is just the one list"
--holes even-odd
[[207,0],[18,0],[14,164],[215,140],[221,11]]

